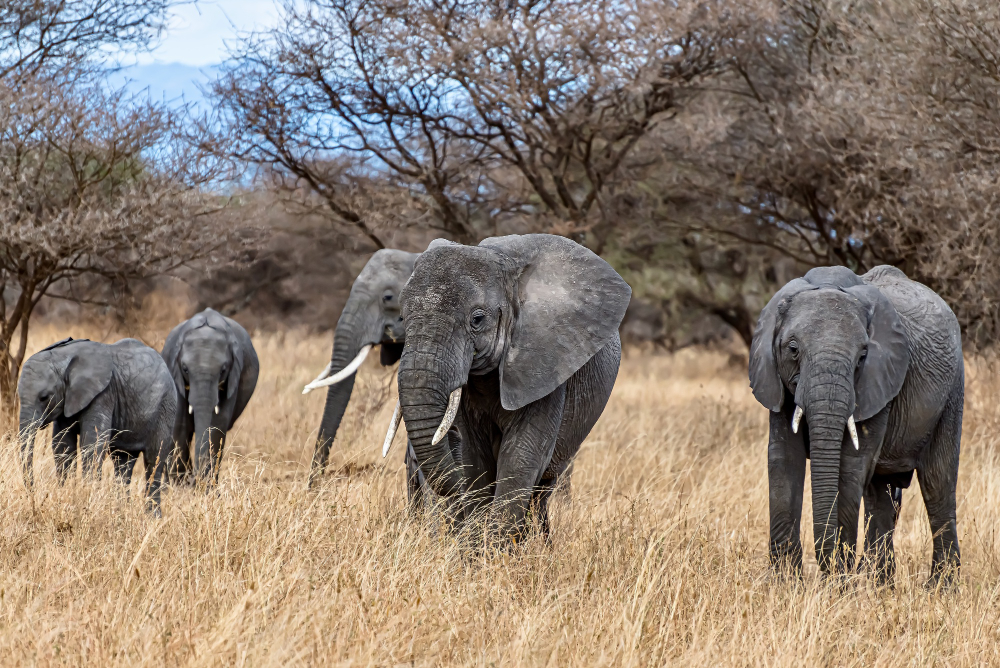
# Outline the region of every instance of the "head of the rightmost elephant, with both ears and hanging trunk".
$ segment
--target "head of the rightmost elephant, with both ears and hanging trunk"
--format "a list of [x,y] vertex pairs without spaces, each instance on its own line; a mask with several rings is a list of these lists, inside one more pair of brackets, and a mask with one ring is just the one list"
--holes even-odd
[[875,286],[845,267],[820,267],[779,290],[761,311],[750,347],[750,386],[771,411],[791,408],[792,430],[808,443],[816,559],[836,565],[837,500],[842,484],[869,469],[858,422],[899,393],[909,366],[902,321]]

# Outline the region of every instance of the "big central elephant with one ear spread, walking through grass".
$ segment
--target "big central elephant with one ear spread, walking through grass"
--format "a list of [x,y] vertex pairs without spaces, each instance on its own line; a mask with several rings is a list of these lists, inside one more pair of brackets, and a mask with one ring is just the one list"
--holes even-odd
[[[631,289],[563,237],[437,241],[403,293],[399,400],[416,462],[439,495],[463,498],[517,535],[534,500],[548,531],[558,476],[600,417],[621,358]],[[457,419],[432,444],[449,396]]]

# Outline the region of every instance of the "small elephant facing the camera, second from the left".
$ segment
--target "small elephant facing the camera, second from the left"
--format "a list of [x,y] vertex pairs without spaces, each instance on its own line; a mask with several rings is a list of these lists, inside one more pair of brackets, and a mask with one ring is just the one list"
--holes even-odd
[[257,386],[257,352],[238,322],[208,308],[171,330],[162,355],[177,388],[173,474],[214,485],[226,434]]

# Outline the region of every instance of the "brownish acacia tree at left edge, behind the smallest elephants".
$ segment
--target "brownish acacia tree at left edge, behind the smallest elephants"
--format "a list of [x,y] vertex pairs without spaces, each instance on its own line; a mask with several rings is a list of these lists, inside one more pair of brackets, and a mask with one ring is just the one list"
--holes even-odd
[[229,237],[222,221],[209,220],[226,201],[205,189],[220,164],[188,141],[175,110],[111,90],[101,63],[88,59],[119,28],[145,44],[165,6],[23,0],[0,10],[8,31],[0,37],[0,401],[8,413],[43,297],[84,276],[127,282],[166,271]]

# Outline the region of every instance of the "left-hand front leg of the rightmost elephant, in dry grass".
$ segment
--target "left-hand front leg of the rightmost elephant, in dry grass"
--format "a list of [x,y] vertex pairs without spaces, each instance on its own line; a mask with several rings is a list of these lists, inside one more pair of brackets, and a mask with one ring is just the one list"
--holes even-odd
[[[792,402],[786,401],[786,406]],[[768,508],[771,567],[779,572],[802,572],[802,491],[806,476],[806,449],[802,431],[792,432],[792,415],[783,410],[770,414],[767,446]]]

